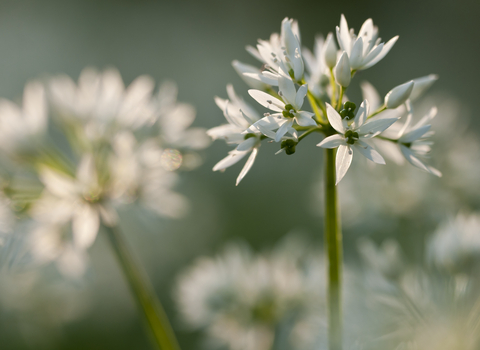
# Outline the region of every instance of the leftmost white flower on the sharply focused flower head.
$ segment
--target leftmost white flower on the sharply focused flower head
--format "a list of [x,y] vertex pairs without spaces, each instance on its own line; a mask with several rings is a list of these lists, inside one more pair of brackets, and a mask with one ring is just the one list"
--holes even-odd
[[234,150],[229,152],[227,157],[215,164],[213,171],[224,170],[236,164],[250,153],[245,166],[237,177],[236,184],[238,185],[252,168],[258,154],[262,137],[258,129],[254,129],[248,134],[243,134],[243,132],[248,129],[252,123],[258,121],[260,115],[255,109],[245,103],[243,99],[237,96],[232,85],[227,85],[227,93],[230,100],[223,100],[216,97],[215,102],[223,111],[229,124],[212,128],[207,131],[207,134],[214,140],[222,138],[229,144],[238,145]]

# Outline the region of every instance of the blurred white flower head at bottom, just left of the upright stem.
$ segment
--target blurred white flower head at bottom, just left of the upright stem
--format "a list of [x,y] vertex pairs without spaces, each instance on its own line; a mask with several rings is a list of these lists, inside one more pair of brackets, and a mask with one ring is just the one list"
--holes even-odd
[[309,273],[323,273],[316,265],[303,270],[300,261],[308,252],[292,248],[290,242],[281,252],[253,255],[230,245],[215,258],[198,259],[175,289],[182,318],[205,329],[212,344],[229,349],[270,349],[281,339],[303,348],[316,338],[318,329],[309,322],[319,314],[323,293],[323,279],[312,283]]

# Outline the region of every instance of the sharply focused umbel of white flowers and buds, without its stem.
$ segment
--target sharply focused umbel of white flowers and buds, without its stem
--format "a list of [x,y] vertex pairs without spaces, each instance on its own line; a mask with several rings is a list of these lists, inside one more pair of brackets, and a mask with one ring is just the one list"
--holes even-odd
[[[385,164],[382,153],[395,147],[414,166],[441,176],[424,160],[432,145],[428,140],[433,133],[429,121],[434,115],[410,126],[412,103],[437,76],[409,80],[390,90],[383,104],[367,98],[357,110],[357,105],[345,95],[355,73],[382,60],[398,36],[382,42],[371,19],[365,21],[356,35],[342,15],[336,39],[338,46],[333,33],[329,33],[326,40],[318,36],[312,53],[302,46],[298,23],[285,18],[280,34],[272,34],[269,40],[258,40],[256,47],[247,46],[247,51],[260,61],[258,66],[233,61],[235,70],[251,87],[248,94],[267,110],[262,116],[235,93],[232,85],[227,86],[228,99],[215,98],[228,124],[207,133],[212,139],[224,139],[235,148],[214,166],[214,171],[223,171],[250,154],[237,178],[238,185],[252,168],[262,141],[278,142],[277,154],[292,155],[305,137],[320,133],[325,138],[317,146],[338,147],[337,184],[347,173],[354,153]],[[304,103],[305,99],[308,104]],[[385,150],[377,150],[372,143],[374,139],[390,145]]]

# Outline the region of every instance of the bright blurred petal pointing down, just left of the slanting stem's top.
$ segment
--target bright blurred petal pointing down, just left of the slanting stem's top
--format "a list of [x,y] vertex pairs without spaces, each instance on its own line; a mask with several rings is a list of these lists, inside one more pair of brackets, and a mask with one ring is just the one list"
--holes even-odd
[[72,219],[72,233],[75,246],[78,248],[90,247],[97,237],[100,227],[98,211],[89,204],[81,205]]

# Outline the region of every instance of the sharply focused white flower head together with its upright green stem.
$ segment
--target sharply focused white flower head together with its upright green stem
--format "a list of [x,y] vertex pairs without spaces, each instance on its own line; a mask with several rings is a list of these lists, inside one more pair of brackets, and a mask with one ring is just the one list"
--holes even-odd
[[[431,149],[431,141],[427,140],[431,135],[430,125],[426,124],[428,118],[410,128],[411,117],[407,117],[407,122],[393,136],[388,136],[387,130],[391,127],[398,129],[398,121],[404,117],[404,112],[411,114],[411,102],[437,77],[429,75],[397,86],[386,95],[383,105],[380,105],[379,97],[370,93],[357,109],[357,105],[346,96],[347,88],[357,71],[374,66],[387,55],[398,36],[382,43],[378,37],[378,28],[371,19],[365,21],[356,35],[348,27],[343,15],[336,34],[338,46],[333,41],[332,34],[329,34],[326,41],[318,36],[312,53],[302,48],[298,23],[285,18],[280,34],[272,34],[269,41],[259,40],[256,49],[247,47],[263,65],[261,68],[242,66],[237,71],[240,71],[249,86],[260,87],[249,90],[250,96],[275,113],[264,113],[264,117],[258,119],[251,118],[247,112],[240,110],[236,118],[240,122],[234,122],[231,113],[226,113],[228,108],[221,107],[229,123],[238,127],[235,128],[235,142],[229,142],[230,137],[227,137],[226,132],[222,135],[227,143],[239,146],[230,152],[226,165],[214,168],[223,170],[233,165],[240,159],[239,151],[243,151],[241,155],[250,152],[252,147],[256,151],[266,139],[279,143],[280,150],[276,154],[293,155],[298,143],[306,137],[323,134],[324,138],[317,146],[326,148],[325,246],[328,258],[330,350],[342,349],[342,235],[336,186],[347,174],[354,152],[382,165],[386,162],[381,152],[400,147],[399,152],[410,163],[434,175],[440,175],[439,171],[419,159],[428,156]],[[238,63],[235,65],[238,66]],[[370,92],[374,90],[368,83],[363,83],[362,86]],[[313,113],[303,109],[305,97],[308,98]],[[241,108],[235,109],[238,111]],[[369,114],[370,110],[373,111],[372,114]],[[246,126],[248,127],[245,128]],[[232,128],[227,127],[228,130]],[[225,131],[223,128],[225,127],[222,127],[222,131]],[[245,130],[242,131],[241,128]],[[212,138],[217,138],[217,134],[218,127],[210,130]],[[242,135],[243,137],[238,137]],[[378,150],[377,143],[381,145]],[[253,161],[247,164],[247,170],[250,170]],[[242,179],[246,172],[242,170]]]

